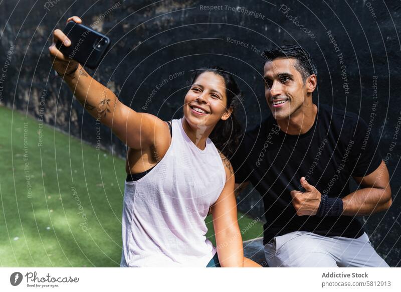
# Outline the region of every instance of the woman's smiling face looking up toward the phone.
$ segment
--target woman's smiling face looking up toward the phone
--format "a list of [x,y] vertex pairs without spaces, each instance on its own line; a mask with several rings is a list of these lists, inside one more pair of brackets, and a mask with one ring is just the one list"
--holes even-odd
[[195,129],[214,128],[219,120],[230,117],[227,109],[226,84],[224,78],[206,71],[191,85],[184,99],[184,117]]

